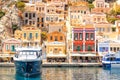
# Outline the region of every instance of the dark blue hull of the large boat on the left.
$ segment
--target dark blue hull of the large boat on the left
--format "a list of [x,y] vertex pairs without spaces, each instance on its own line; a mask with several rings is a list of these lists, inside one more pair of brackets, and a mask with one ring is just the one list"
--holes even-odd
[[20,74],[22,76],[36,76],[40,75],[41,71],[41,65],[42,61],[30,61],[30,62],[24,62],[24,61],[15,61],[15,68],[16,73]]

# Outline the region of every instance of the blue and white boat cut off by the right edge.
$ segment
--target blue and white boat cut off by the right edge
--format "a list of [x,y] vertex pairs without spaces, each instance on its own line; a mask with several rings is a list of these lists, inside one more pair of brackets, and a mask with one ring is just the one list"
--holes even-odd
[[102,59],[103,68],[120,68],[120,52],[107,53]]

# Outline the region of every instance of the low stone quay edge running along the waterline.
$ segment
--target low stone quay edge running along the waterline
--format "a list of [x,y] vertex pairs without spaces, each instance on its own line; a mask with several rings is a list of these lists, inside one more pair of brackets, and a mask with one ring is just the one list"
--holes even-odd
[[[14,66],[14,63],[0,63],[0,67]],[[102,63],[43,63],[42,67],[102,67]]]

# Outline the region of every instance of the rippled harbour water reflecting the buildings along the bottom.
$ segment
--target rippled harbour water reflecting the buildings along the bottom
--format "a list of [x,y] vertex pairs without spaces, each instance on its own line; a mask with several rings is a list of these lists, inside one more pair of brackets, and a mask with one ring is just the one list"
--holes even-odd
[[41,76],[25,78],[15,74],[14,68],[0,67],[0,80],[120,80],[120,68],[104,70],[100,67],[42,68]]

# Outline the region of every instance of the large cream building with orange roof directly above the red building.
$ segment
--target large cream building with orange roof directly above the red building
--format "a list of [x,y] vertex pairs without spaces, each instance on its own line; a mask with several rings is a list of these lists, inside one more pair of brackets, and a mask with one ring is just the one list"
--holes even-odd
[[73,2],[69,7],[69,18],[71,26],[90,22],[88,3],[85,1]]

